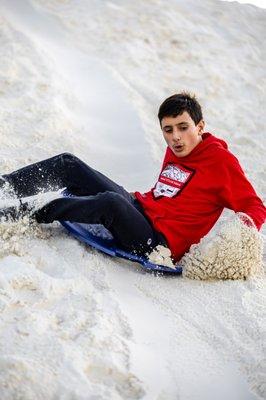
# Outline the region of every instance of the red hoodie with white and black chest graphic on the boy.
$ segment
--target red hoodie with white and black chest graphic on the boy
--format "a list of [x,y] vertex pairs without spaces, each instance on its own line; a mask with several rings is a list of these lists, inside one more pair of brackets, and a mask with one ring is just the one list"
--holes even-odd
[[210,133],[190,154],[167,147],[156,185],[135,192],[154,228],[167,240],[175,261],[213,227],[224,207],[248,214],[258,229],[266,209],[227,144]]

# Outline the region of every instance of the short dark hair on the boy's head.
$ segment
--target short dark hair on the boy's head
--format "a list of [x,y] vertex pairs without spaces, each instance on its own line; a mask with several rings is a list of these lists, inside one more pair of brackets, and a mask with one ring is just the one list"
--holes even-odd
[[195,125],[203,119],[201,106],[196,97],[190,93],[182,92],[173,94],[160,105],[158,112],[160,125],[163,117],[177,117],[177,115],[183,114],[184,111],[190,115]]

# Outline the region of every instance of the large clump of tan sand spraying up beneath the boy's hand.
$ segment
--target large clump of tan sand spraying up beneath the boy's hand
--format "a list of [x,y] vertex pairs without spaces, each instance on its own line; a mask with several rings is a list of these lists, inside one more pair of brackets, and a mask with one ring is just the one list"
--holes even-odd
[[226,221],[211,238],[206,235],[180,260],[191,279],[247,279],[263,273],[262,237],[241,213]]

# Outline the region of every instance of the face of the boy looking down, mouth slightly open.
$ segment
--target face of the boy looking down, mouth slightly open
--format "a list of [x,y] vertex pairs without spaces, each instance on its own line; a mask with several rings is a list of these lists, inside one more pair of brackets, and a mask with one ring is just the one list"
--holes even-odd
[[187,111],[177,117],[163,117],[163,136],[177,157],[185,157],[202,141],[204,121],[197,125]]

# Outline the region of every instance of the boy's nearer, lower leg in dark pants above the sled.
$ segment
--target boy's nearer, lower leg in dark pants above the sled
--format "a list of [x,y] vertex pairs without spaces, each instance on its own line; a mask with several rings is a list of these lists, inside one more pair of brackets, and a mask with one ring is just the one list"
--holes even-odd
[[34,216],[39,223],[65,220],[102,224],[123,248],[139,253],[150,251],[160,241],[145,216],[132,202],[115,192],[59,198],[38,210]]

